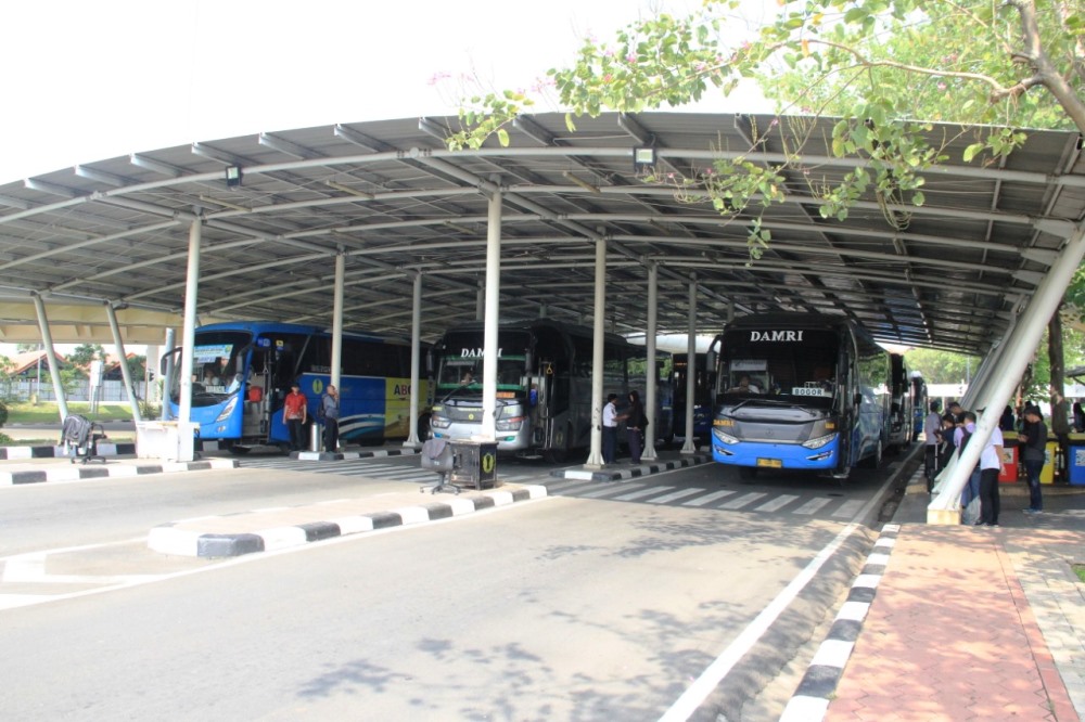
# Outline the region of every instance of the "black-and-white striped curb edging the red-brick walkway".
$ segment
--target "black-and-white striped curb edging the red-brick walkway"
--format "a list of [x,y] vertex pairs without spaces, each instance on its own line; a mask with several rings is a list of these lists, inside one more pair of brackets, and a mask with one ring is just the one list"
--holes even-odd
[[803,681],[799,683],[794,696],[783,709],[780,722],[820,722],[829,709],[829,700],[837,692],[844,667],[855,648],[863,622],[870,611],[875,593],[885,573],[889,555],[896,544],[901,525],[886,524],[878,541],[867,556],[863,571],[847,593],[847,601],[840,607],[837,618],[829,629],[829,635],[821,642],[810,660]]

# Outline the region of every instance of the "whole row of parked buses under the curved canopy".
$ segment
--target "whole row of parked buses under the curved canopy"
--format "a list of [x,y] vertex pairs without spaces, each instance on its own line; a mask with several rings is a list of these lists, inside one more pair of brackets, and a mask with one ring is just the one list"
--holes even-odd
[[[592,430],[591,328],[536,319],[501,324],[497,341],[498,450],[558,463],[586,449]],[[410,344],[363,334],[344,334],[342,343],[343,442],[408,438]],[[331,334],[317,326],[238,322],[197,328],[191,414],[200,437],[238,452],[284,447],[283,399],[298,383],[314,415],[331,382]],[[484,326],[475,322],[421,349],[420,440],[480,435],[484,346]],[[748,476],[779,468],[842,478],[860,463],[877,465],[886,449],[915,440],[926,405],[926,385],[908,373],[904,358],[842,317],[743,317],[692,360],[660,352],[651,373],[643,346],[608,334],[603,348],[604,392],[625,399],[630,389],[643,389],[647,378],[655,384],[652,434],[661,442],[687,435],[686,383],[692,376],[694,439],[711,441],[716,462]],[[175,374],[173,417],[179,398]]]

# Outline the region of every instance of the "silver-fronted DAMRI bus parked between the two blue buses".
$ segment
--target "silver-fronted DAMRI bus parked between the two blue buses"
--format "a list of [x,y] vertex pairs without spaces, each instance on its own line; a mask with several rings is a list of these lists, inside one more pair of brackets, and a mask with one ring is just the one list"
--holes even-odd
[[[481,433],[484,345],[481,322],[450,328],[434,345],[436,400],[430,420],[434,438],[470,438]],[[591,328],[550,319],[502,323],[497,346],[498,451],[560,463],[571,450],[587,448],[591,439]],[[608,334],[603,357],[603,394],[617,394],[624,401],[636,388],[643,398],[644,348]],[[668,431],[669,416],[658,412],[656,424]]]

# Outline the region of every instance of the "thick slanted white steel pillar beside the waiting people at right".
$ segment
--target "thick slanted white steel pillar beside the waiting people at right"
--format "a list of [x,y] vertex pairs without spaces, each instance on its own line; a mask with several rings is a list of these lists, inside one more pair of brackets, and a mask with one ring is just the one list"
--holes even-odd
[[[965,447],[957,465],[948,472],[946,479],[940,481],[941,491],[927,507],[928,524],[960,523],[960,492],[968,484],[971,469],[980,461],[980,452],[986,446],[992,431],[998,426],[1003,409],[1013,395],[1025,366],[1032,360],[1033,352],[1047,328],[1047,322],[1059,308],[1062,294],[1065,293],[1083,256],[1085,256],[1085,229],[1074,227],[1059,258],[1041,281],[1027,308],[1021,313],[1013,331],[1004,341],[1006,350],[999,363],[992,366],[990,384],[984,384],[986,411],[980,414],[976,421],[974,441]],[[986,392],[987,386],[990,392]]]

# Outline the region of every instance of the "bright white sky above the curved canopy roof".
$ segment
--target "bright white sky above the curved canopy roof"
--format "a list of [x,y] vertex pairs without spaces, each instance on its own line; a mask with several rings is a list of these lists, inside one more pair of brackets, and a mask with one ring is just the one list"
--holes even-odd
[[[751,0],[752,1],[752,0]],[[699,0],[35,0],[0,27],[0,183],[289,128],[455,114]],[[434,83],[434,78],[446,78]],[[756,109],[756,108],[743,108]]]

